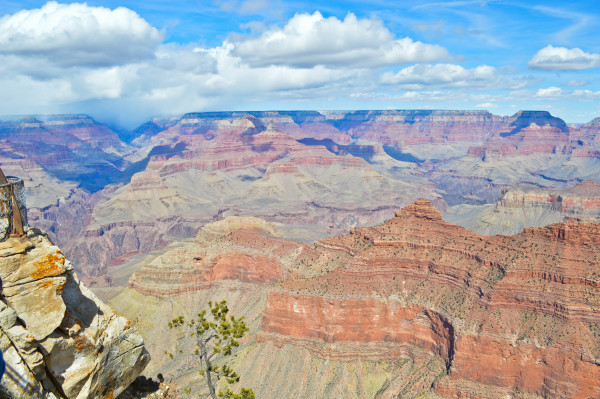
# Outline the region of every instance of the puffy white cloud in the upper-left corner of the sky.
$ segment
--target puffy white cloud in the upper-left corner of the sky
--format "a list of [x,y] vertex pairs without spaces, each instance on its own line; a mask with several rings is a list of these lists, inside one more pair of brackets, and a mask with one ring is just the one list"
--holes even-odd
[[0,18],[0,54],[61,66],[119,65],[153,57],[163,34],[134,11],[59,4]]

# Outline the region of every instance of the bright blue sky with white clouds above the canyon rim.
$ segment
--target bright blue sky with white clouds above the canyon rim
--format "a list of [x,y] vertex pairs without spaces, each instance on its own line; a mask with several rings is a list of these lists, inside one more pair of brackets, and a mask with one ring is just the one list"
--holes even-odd
[[0,115],[356,109],[588,122],[600,1],[0,0]]

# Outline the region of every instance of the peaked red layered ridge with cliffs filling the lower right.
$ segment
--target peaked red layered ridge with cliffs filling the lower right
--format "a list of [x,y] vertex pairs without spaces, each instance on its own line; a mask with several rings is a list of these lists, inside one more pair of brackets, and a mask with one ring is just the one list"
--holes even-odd
[[[415,345],[449,365],[436,384],[448,397],[600,397],[599,237],[600,225],[576,222],[480,236],[419,201],[380,226],[321,241],[317,249],[351,258],[283,282],[287,292],[268,297],[262,339],[330,356],[348,342]],[[386,348],[382,357],[401,352]]]

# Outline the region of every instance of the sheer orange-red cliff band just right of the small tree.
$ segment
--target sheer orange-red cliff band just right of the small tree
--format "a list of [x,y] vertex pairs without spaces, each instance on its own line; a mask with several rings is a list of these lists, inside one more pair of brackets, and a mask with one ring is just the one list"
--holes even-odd
[[[434,352],[449,364],[453,354],[453,328],[440,314],[418,305],[403,306],[397,301],[378,299],[337,299],[287,292],[271,292],[262,319],[262,330],[294,339],[322,341],[326,344],[351,343],[343,351],[333,347],[325,354],[331,358],[397,358],[406,347],[418,346]],[[263,335],[268,340],[268,335]],[[318,345],[318,344],[317,344]],[[311,346],[307,343],[307,346]],[[313,344],[314,348],[314,344]]]

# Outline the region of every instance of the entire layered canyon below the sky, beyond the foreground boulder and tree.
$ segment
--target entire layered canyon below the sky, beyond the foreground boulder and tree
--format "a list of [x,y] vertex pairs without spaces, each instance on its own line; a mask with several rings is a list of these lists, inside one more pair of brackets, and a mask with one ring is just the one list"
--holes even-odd
[[259,397],[585,398],[599,133],[544,111],[35,116],[0,121],[0,165],[148,375],[196,386],[166,324],[227,299]]

